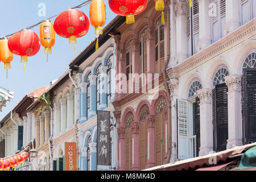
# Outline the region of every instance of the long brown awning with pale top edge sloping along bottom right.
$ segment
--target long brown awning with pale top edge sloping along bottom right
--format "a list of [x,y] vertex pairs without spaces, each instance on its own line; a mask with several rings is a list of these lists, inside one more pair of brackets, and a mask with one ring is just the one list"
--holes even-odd
[[205,156],[200,156],[197,158],[191,158],[186,160],[180,160],[170,164],[164,164],[163,166],[156,166],[144,171],[181,171],[183,169],[188,170],[189,168],[195,169],[196,167],[203,167],[204,164],[207,166],[213,163],[218,164],[220,160],[226,161],[229,157],[241,154],[243,151],[249,150],[251,147],[255,147],[256,143],[247,144],[245,146],[239,146],[230,148],[229,150],[217,152],[214,154],[209,154]]

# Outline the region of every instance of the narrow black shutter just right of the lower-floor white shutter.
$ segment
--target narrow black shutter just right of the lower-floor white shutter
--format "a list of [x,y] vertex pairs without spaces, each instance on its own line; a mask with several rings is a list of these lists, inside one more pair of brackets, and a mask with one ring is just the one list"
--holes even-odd
[[196,156],[199,156],[200,148],[200,98],[196,97]]

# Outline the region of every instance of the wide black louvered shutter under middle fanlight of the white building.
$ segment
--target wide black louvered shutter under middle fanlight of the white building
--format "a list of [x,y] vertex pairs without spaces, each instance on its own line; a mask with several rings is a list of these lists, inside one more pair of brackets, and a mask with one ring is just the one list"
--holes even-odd
[[228,140],[228,86],[216,85],[213,92],[213,141],[218,152],[226,150]]

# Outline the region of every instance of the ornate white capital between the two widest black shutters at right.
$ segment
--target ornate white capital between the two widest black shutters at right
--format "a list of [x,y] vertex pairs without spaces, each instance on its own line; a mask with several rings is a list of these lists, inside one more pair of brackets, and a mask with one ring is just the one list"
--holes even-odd
[[233,74],[225,77],[225,83],[228,85],[229,92],[241,90],[241,75]]

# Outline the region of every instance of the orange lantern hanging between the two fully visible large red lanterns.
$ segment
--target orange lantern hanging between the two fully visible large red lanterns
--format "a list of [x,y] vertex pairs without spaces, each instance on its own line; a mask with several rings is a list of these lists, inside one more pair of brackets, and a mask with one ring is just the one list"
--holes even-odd
[[47,54],[48,62],[48,54],[52,53],[55,44],[55,31],[50,20],[44,20],[40,25],[40,42],[44,47],[44,53]]

